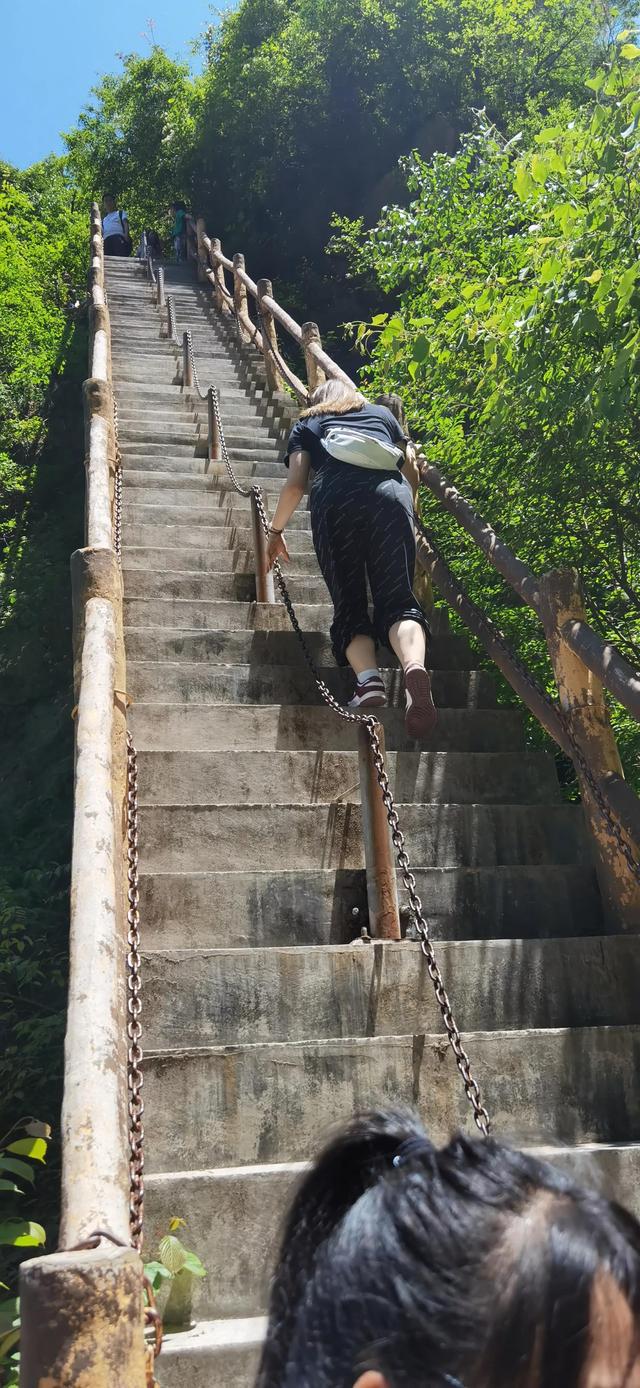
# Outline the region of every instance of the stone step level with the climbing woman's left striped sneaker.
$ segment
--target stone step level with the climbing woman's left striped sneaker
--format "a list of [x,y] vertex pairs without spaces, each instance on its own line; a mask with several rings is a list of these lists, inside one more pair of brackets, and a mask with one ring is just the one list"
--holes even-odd
[[[233,575],[232,577],[246,577]],[[128,576],[125,579],[125,590]],[[353,676],[336,666],[322,666],[321,679],[332,694],[347,702],[354,693]],[[219,669],[207,662],[128,662],[128,693],[143,704],[312,704],[315,680],[307,666],[271,665],[260,669],[235,665]],[[400,669],[385,672],[389,704],[404,709],[404,679]],[[433,698],[439,708],[494,708],[496,686],[486,670],[435,670]]]

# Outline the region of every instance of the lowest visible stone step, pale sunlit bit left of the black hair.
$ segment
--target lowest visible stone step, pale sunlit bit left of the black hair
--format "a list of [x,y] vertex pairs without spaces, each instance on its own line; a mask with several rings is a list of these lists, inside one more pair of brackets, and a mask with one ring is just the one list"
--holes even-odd
[[167,1335],[155,1364],[160,1388],[251,1388],[265,1332],[255,1320],[204,1321],[182,1334]]

